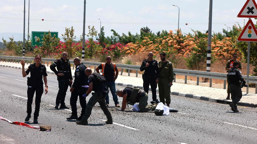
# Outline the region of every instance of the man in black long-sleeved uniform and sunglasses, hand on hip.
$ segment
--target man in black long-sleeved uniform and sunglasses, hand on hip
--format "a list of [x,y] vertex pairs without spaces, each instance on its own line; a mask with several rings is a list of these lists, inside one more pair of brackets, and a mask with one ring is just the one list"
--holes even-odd
[[[72,85],[71,64],[67,57],[67,52],[63,52],[62,57],[56,59],[56,61],[50,65],[50,69],[57,75],[59,85],[55,108],[58,108],[61,103],[60,108],[69,109],[64,102],[68,86]],[[58,71],[55,67],[57,67]]]

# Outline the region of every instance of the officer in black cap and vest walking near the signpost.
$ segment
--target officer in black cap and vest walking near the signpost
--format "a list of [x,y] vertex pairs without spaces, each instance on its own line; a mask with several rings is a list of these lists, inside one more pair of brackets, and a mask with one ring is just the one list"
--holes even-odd
[[244,81],[241,71],[238,69],[239,62],[234,61],[232,69],[228,71],[228,85],[230,87],[232,102],[229,104],[233,112],[239,112],[236,104],[242,98],[242,90],[240,81]]

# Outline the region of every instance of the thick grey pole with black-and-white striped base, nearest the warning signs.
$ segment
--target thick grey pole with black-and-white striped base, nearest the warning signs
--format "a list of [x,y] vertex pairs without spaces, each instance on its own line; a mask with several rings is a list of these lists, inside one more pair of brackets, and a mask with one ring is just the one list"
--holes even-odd
[[209,8],[209,27],[208,27],[208,47],[207,47],[206,71],[210,71],[211,44],[212,44],[212,0],[210,0],[210,8]]

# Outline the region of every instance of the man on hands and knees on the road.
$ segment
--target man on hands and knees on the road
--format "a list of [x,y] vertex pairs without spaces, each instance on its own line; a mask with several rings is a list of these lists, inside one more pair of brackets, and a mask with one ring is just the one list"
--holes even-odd
[[158,105],[154,103],[147,106],[148,94],[138,88],[126,87],[125,89],[118,89],[116,94],[123,98],[121,111],[126,109],[127,104],[134,105],[136,102],[139,102],[139,112],[154,111]]

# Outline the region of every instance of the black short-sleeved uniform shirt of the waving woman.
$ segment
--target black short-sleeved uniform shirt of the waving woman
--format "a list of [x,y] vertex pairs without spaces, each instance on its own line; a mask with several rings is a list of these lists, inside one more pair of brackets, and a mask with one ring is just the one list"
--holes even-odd
[[31,81],[42,81],[44,76],[47,76],[46,67],[40,63],[39,67],[36,67],[35,63],[29,65],[25,73],[29,75]]

